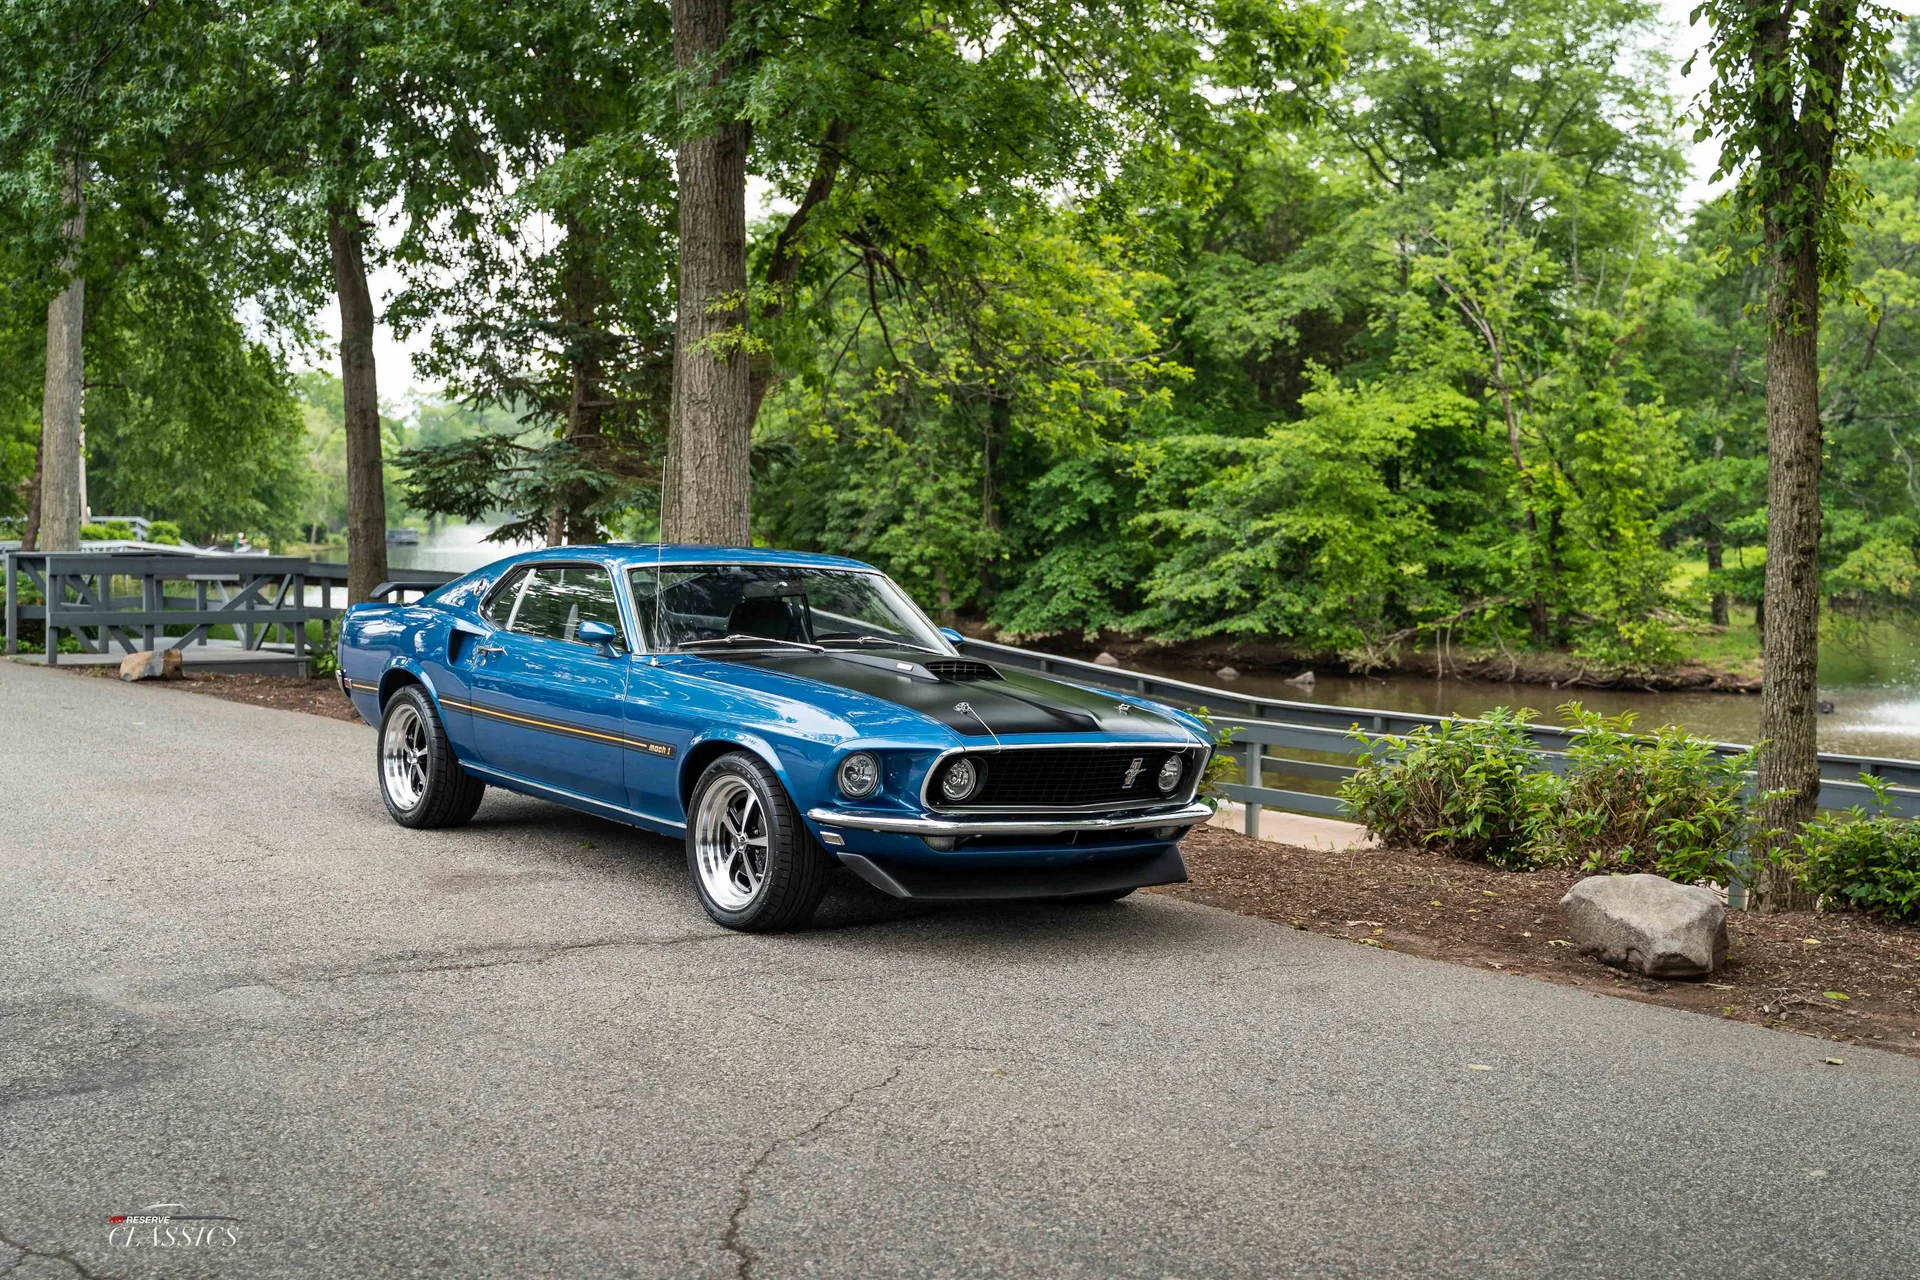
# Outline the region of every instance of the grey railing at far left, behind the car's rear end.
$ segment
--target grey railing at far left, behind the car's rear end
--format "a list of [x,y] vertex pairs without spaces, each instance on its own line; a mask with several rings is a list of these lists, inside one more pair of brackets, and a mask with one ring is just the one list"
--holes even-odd
[[[420,593],[455,574],[409,574],[384,583],[388,595]],[[125,585],[132,589],[125,589]],[[167,583],[184,585],[167,591]],[[275,647],[305,658],[307,624],[321,624],[321,645],[346,612],[348,566],[273,555],[154,555],[144,551],[8,551],[6,652],[19,652],[21,624],[46,629],[46,664],[60,664],[60,635],[92,654],[205,645],[228,626],[244,651]],[[36,603],[21,601],[33,587]],[[334,589],[340,603],[334,604]],[[309,599],[319,589],[319,603]],[[280,633],[278,643],[273,635]],[[161,643],[165,641],[165,645]]]

